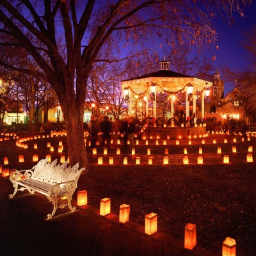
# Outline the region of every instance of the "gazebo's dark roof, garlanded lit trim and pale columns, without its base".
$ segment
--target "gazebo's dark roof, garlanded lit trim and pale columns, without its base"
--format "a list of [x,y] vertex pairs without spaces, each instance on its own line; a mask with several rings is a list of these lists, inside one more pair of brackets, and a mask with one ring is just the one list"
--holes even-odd
[[202,118],[204,118],[204,96],[209,96],[212,83],[196,77],[187,76],[169,70],[170,62],[165,58],[160,62],[161,70],[143,76],[134,77],[121,82],[125,101],[128,103],[128,115],[132,114],[132,101],[138,97],[145,97],[146,115],[148,116],[148,102],[151,93],[153,108],[152,116],[156,118],[156,93],[164,92],[171,101],[171,116],[173,117],[173,100],[180,92],[186,92],[186,118],[189,116],[189,101],[193,100],[193,114],[196,115],[196,97],[202,98]]

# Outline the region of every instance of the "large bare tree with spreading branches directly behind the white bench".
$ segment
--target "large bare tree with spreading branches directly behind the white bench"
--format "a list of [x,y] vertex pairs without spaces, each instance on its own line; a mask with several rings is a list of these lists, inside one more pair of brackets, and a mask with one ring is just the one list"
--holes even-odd
[[[195,42],[199,47],[216,40],[211,20],[238,11],[239,0],[209,2],[167,0],[29,1],[0,0],[1,35],[11,36],[1,45],[21,47],[40,70],[0,65],[42,77],[51,84],[61,104],[67,127],[70,163],[88,166],[83,143],[83,111],[88,76],[109,39],[125,45],[141,45],[160,36],[173,41]],[[243,1],[243,4],[245,1]],[[140,48],[137,48],[140,51]]]

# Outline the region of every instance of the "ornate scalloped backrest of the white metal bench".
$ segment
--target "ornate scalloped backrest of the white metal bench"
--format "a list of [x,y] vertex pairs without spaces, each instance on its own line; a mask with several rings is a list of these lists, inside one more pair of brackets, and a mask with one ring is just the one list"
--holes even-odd
[[79,163],[75,164],[72,167],[67,167],[67,164],[67,162],[63,164],[57,164],[57,159],[55,159],[51,163],[47,163],[47,159],[42,159],[34,167],[31,179],[44,181],[49,184],[76,180],[77,184],[79,176],[85,168],[81,168],[79,170]]

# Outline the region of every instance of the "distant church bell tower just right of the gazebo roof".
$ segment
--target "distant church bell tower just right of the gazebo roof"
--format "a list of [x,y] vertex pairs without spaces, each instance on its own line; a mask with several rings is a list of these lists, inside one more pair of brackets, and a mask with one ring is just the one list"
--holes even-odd
[[224,98],[224,82],[220,79],[218,69],[213,75],[212,88],[210,90],[210,101],[218,107],[218,102],[220,102],[220,99]]

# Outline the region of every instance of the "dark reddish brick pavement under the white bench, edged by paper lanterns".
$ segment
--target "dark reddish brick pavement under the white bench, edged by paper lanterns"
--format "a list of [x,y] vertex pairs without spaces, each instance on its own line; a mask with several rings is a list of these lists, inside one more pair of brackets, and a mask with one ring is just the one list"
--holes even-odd
[[120,225],[118,216],[104,218],[90,205],[75,212],[58,209],[56,217],[45,221],[52,211],[45,196],[19,191],[9,200],[12,191],[10,180],[1,177],[0,255],[215,255],[198,247],[188,252],[182,241],[161,232],[147,236],[144,227]]

